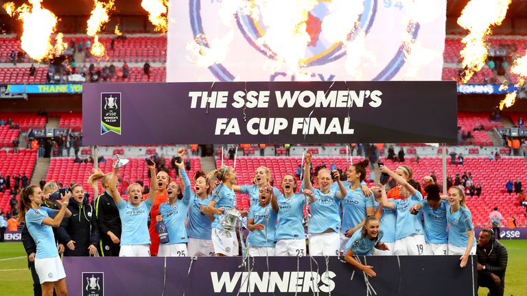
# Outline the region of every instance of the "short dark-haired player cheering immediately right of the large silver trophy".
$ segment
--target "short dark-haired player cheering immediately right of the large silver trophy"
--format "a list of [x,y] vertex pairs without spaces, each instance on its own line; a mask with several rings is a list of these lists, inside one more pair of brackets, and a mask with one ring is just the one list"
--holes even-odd
[[259,204],[250,207],[247,217],[249,256],[274,256],[277,243],[274,233],[277,225],[278,203],[273,188],[259,188]]

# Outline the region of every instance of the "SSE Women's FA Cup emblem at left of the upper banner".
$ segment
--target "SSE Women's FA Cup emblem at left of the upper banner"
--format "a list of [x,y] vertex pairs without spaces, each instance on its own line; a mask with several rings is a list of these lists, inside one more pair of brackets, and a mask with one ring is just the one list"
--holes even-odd
[[101,93],[101,134],[121,134],[121,93]]

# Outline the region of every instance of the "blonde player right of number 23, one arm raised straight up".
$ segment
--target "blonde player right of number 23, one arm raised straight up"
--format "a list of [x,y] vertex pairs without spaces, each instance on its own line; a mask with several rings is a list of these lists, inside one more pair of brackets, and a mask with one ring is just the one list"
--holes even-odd
[[[340,182],[338,171],[329,172],[320,169],[316,177],[318,188],[311,183],[309,172],[311,154],[305,155],[304,182],[305,189],[313,194],[307,199],[311,204],[312,217],[308,223],[309,254],[312,256],[338,256],[340,254],[340,201],[347,195],[347,190]],[[331,190],[336,180],[339,190]]]

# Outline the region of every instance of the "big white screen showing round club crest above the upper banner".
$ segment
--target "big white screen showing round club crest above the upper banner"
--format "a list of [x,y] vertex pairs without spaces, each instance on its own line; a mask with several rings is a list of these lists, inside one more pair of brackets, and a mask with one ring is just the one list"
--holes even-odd
[[446,0],[169,1],[167,82],[441,80]]

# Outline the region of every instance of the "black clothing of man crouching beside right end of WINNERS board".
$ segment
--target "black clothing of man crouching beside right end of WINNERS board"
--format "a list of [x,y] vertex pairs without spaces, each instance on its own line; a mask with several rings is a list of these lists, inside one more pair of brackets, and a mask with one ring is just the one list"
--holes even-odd
[[[508,260],[507,249],[497,240],[494,240],[487,249],[478,245],[476,255],[478,255],[478,263],[485,267],[484,270],[478,271],[478,286],[489,288],[491,296],[503,296],[505,289],[505,270]],[[496,286],[492,280],[491,273],[500,277],[500,286]]]

